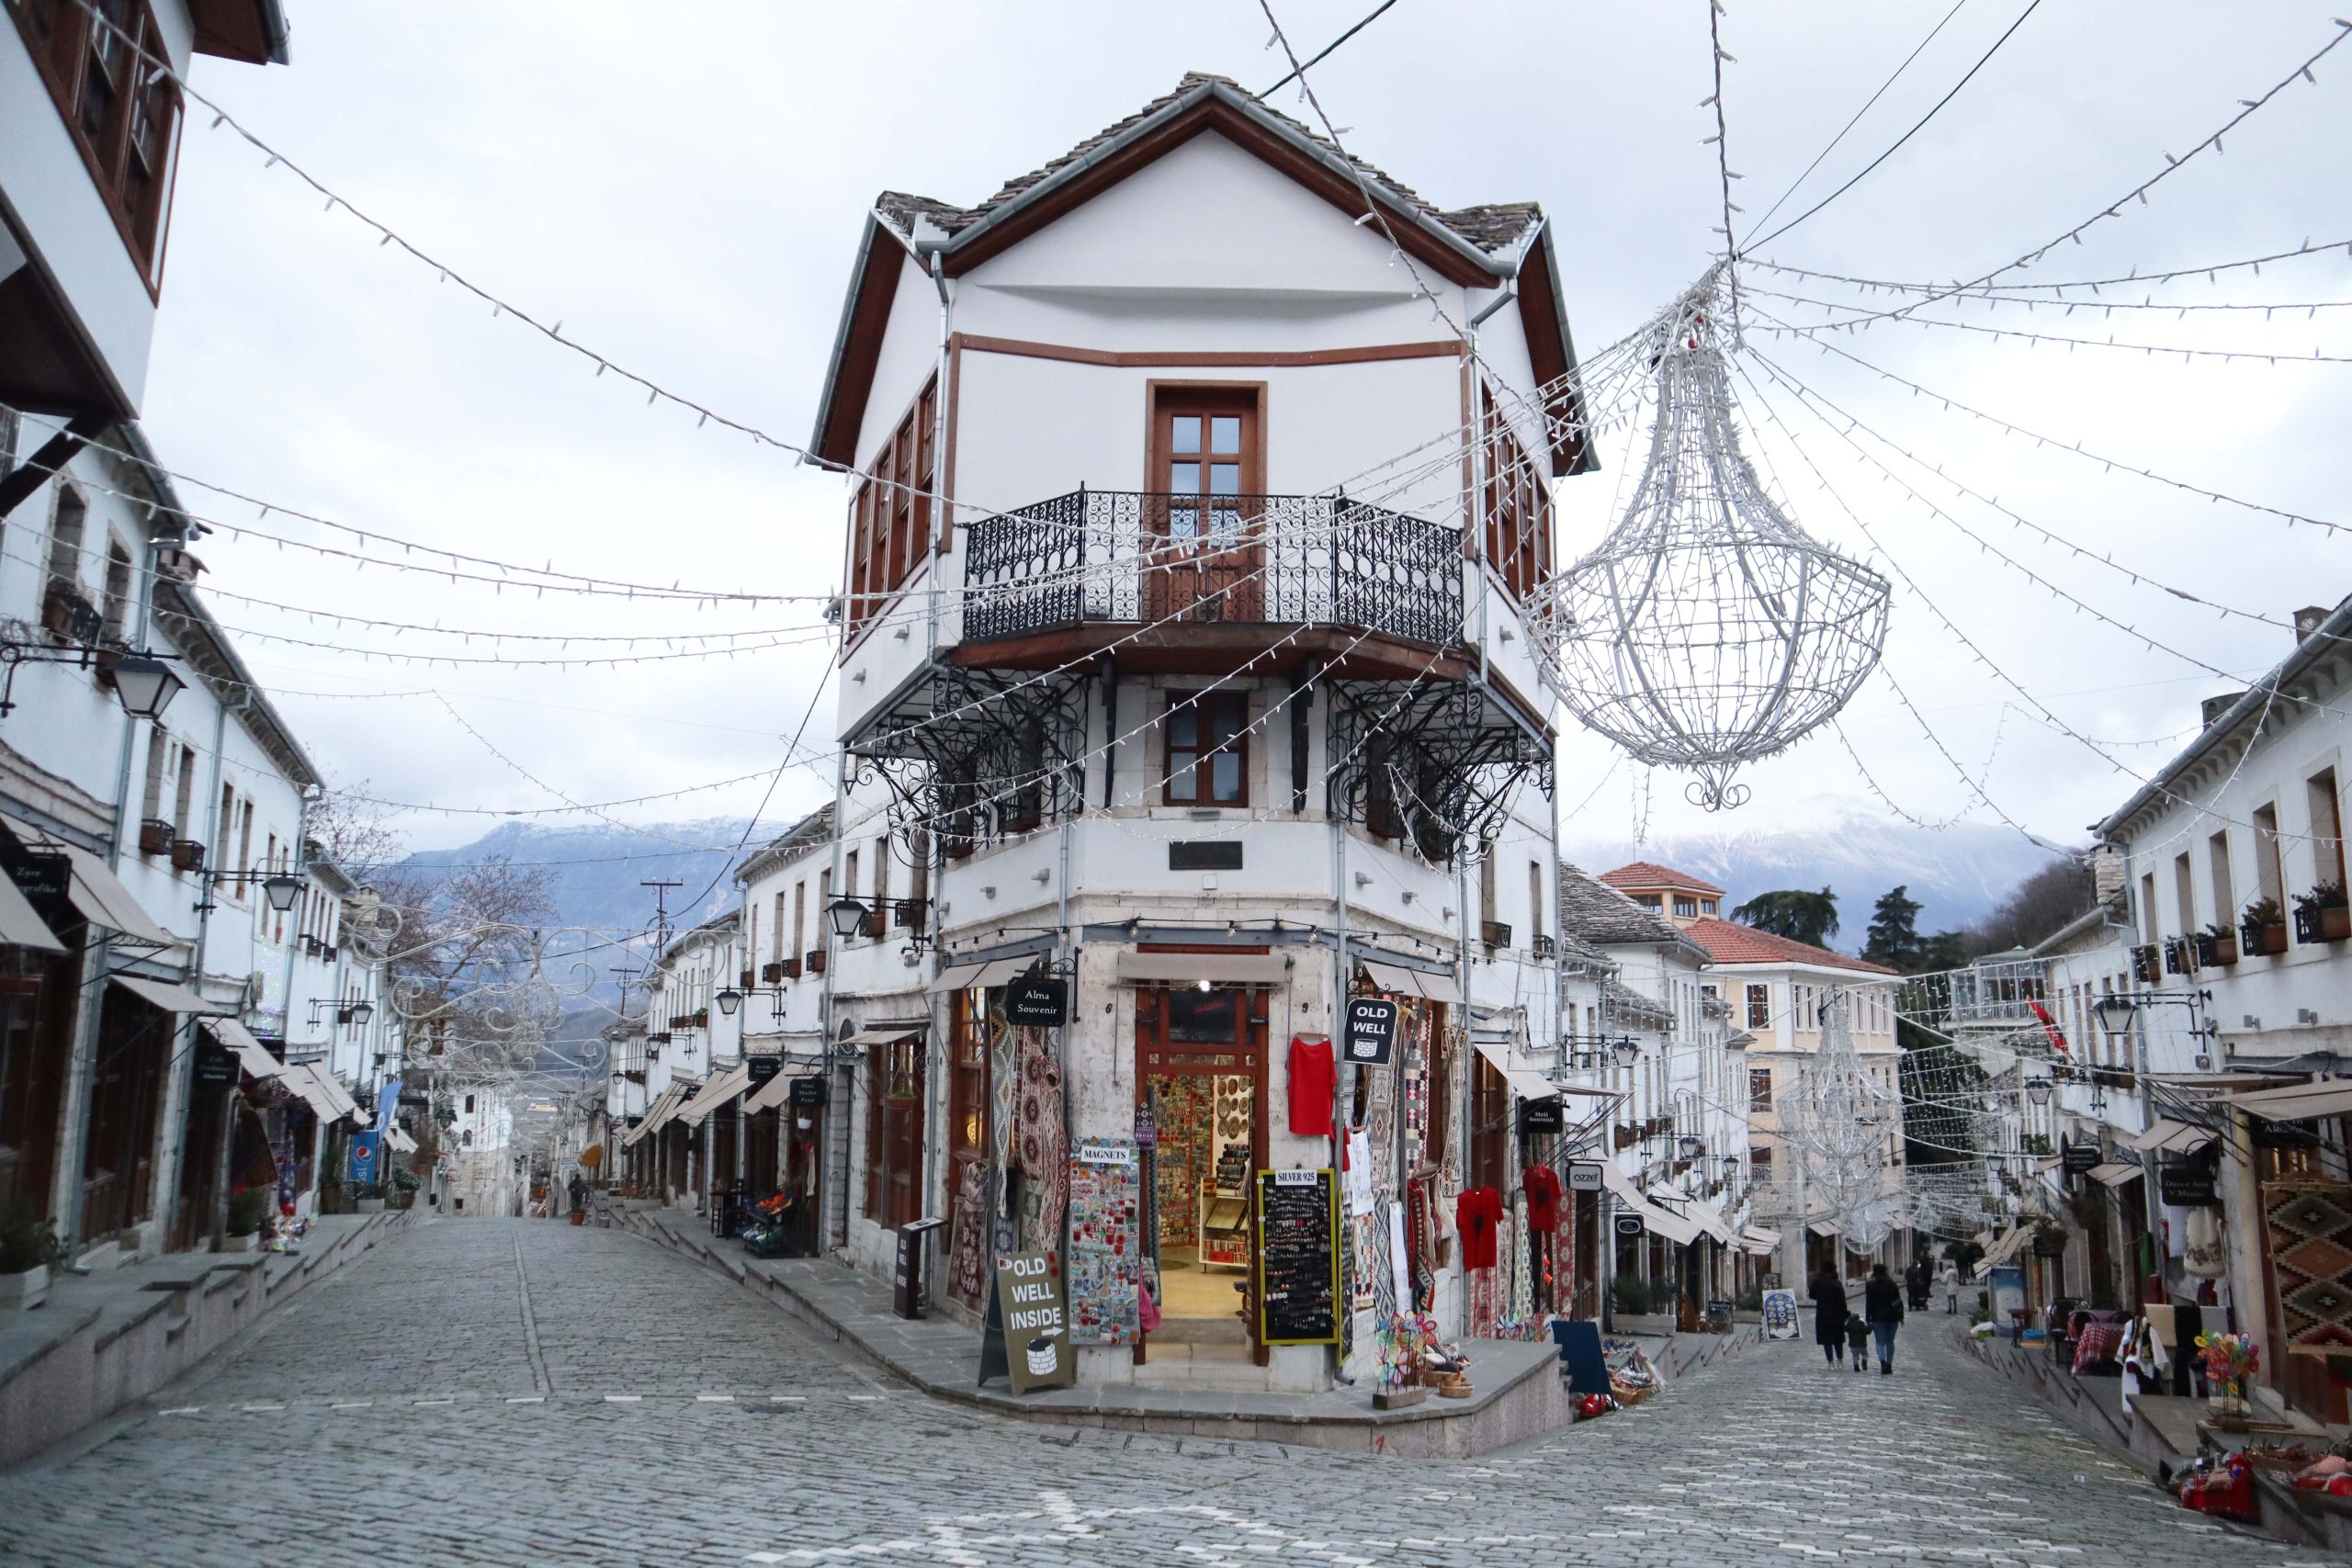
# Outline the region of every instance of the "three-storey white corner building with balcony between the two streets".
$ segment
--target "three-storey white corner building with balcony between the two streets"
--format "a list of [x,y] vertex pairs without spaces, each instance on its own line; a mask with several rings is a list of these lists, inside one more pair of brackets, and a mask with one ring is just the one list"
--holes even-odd
[[[837,1253],[938,1218],[960,1314],[1058,1253],[1082,1382],[1367,1375],[1390,1218],[1446,1335],[1550,1291],[1557,280],[1538,207],[1442,212],[1207,75],[978,207],[875,202],[814,442],[854,470]],[[1016,976],[1065,1023],[1007,1023]],[[1390,1067],[1324,1067],[1350,994],[1399,1004]],[[1341,1345],[1270,1345],[1251,1173],[1341,1143]]]

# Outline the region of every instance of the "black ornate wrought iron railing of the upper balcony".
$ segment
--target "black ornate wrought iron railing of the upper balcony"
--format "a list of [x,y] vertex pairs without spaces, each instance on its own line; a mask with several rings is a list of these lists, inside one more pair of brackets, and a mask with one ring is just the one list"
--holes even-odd
[[1080,489],[971,524],[964,548],[967,642],[1171,621],[1461,644],[1461,534],[1345,496]]

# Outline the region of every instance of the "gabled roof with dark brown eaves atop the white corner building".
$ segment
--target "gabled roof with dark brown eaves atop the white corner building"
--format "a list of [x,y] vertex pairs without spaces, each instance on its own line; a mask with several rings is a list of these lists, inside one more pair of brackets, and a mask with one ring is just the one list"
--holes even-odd
[[[858,244],[858,263],[842,301],[842,320],[826,367],[826,390],[816,409],[809,449],[821,463],[856,463],[858,418],[873,388],[873,357],[882,348],[891,296],[913,252],[936,259],[943,275],[967,273],[1018,240],[1094,200],[1129,174],[1152,165],[1202,132],[1216,132],[1331,202],[1350,219],[1364,219],[1364,195],[1383,214],[1397,244],[1446,282],[1496,289],[1519,284],[1519,317],[1538,381],[1559,381],[1576,364],[1569,317],[1559,299],[1559,261],[1550,226],[1536,202],[1489,202],[1444,209],[1411,186],[1336,146],[1329,136],[1268,108],[1254,92],[1223,75],[1185,73],[1124,120],[1087,136],[1051,162],[1004,181],[976,207],[957,207],[929,195],[884,190]],[[896,244],[891,242],[896,240]],[[1559,430],[1552,473],[1578,473],[1590,463],[1576,435],[1581,421],[1573,395],[1559,393],[1548,409]]]

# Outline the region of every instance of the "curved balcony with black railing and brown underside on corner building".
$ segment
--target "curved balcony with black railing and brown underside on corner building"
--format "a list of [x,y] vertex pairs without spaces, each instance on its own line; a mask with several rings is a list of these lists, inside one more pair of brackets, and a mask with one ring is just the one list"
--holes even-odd
[[955,663],[1216,675],[1317,658],[1338,679],[1463,679],[1451,527],[1343,496],[1080,489],[967,531]]

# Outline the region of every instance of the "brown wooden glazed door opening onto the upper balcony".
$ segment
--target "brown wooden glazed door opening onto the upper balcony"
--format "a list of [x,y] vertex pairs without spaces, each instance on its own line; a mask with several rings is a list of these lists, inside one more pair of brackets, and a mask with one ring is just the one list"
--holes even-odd
[[1148,621],[1263,621],[1258,388],[1162,386],[1143,517]]

